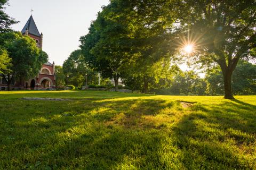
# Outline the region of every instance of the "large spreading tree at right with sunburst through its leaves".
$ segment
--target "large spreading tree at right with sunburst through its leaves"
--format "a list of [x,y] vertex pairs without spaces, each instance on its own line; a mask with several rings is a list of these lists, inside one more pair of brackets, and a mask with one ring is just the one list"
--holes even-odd
[[189,56],[194,62],[220,66],[225,98],[233,99],[231,76],[238,61],[255,58],[256,1],[174,2],[170,12],[176,14],[179,41],[195,47],[195,53]]

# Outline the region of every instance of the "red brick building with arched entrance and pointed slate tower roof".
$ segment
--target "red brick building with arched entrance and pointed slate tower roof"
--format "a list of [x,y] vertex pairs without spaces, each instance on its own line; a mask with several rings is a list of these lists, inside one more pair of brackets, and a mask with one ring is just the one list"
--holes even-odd
[[[37,47],[43,48],[43,33],[39,33],[33,16],[28,19],[25,27],[21,30],[22,35],[29,36],[35,39]],[[12,82],[12,89],[55,89],[55,64],[47,62],[42,65],[41,70],[35,78],[28,81]],[[6,90],[7,84],[3,79],[0,79],[0,90]]]

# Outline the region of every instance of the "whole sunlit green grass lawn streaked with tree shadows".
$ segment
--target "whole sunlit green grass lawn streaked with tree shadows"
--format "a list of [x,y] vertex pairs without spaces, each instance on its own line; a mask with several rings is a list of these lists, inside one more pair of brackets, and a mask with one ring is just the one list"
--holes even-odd
[[235,98],[0,92],[0,169],[256,169],[256,96]]

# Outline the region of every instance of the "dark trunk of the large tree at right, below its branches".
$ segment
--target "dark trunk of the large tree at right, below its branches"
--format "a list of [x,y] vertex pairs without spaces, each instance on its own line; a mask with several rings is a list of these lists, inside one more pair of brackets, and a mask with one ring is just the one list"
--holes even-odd
[[225,99],[234,99],[232,95],[231,78],[232,78],[231,71],[227,70],[226,73],[223,73]]

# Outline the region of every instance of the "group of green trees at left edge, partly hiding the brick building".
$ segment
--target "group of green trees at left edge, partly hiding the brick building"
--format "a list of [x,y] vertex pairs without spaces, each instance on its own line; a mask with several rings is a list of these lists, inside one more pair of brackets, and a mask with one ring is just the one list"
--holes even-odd
[[10,26],[17,23],[4,12],[6,0],[0,0],[0,76],[7,82],[28,80],[35,77],[48,55],[36,46],[36,41]]

